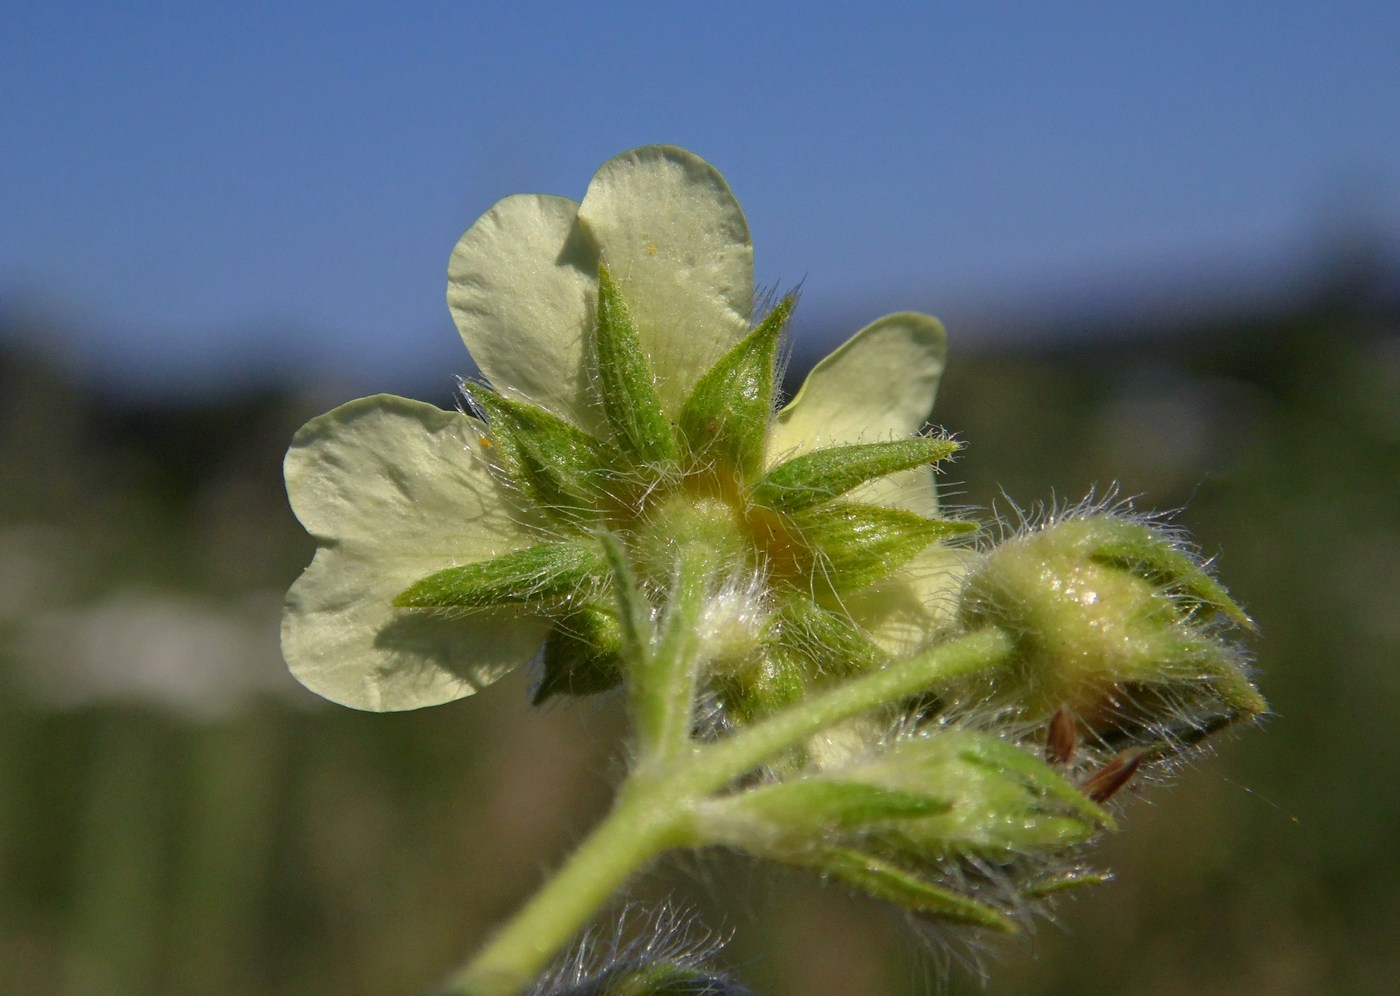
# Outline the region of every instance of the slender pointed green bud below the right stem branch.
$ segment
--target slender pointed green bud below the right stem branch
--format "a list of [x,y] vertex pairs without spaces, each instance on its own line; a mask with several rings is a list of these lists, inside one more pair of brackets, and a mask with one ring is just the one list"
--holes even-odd
[[955,871],[1039,873],[1112,825],[1088,796],[1025,749],[952,728],[706,801],[696,819],[710,843],[815,869],[907,909],[997,930],[1014,925],[960,891]]

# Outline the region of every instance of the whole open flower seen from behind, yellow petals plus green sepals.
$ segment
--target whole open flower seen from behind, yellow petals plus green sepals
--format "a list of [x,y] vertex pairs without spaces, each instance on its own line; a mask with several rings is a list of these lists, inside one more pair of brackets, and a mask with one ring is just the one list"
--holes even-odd
[[685,558],[749,593],[752,625],[731,629],[752,639],[720,654],[752,650],[749,670],[708,664],[739,712],[820,677],[804,647],[822,626],[876,647],[857,654],[875,665],[948,622],[962,553],[938,541],[970,527],[931,518],[930,465],[955,444],[918,436],[942,326],[879,319],[774,412],[792,303],[750,324],[748,224],[699,157],[648,146],[605,162],[581,203],[501,200],[454,249],[448,304],[490,384],[466,387],[475,415],[365,398],[287,454],[318,551],[283,647],[312,691],[414,709],[540,646],[540,696],[608,688],[631,625],[616,556],[658,602]]

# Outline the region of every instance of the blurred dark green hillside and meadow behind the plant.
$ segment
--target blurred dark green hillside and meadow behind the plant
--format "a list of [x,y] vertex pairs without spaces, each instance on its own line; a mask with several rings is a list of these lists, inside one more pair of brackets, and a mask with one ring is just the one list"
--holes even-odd
[[[1260,622],[1277,714],[1140,789],[1117,881],[995,948],[990,990],[1393,992],[1394,284],[1351,266],[1280,307],[1064,331],[955,338],[951,500],[1180,509]],[[532,712],[525,674],[406,716],[319,703],[277,650],[311,553],[280,461],[340,398],[136,406],[24,339],[0,335],[0,992],[426,990],[606,804],[616,712]],[[640,894],[734,926],[760,989],[923,992],[896,918],[742,867],[687,862]]]

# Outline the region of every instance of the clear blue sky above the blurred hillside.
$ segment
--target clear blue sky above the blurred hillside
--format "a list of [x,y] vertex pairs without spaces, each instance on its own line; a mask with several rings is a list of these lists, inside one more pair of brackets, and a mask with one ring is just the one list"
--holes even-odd
[[1400,231],[1397,52],[1392,3],[8,4],[0,314],[133,385],[445,380],[461,231],[671,141],[802,321],[956,342]]

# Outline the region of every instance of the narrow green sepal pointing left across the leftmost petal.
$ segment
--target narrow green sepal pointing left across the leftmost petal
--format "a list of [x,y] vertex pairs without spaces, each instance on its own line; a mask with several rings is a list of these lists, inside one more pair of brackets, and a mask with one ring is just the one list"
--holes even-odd
[[482,609],[524,602],[552,608],[587,597],[606,576],[606,563],[589,544],[540,544],[428,574],[405,588],[393,604]]

